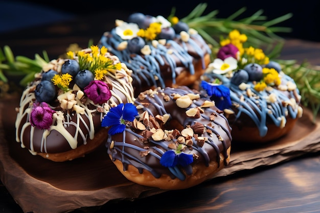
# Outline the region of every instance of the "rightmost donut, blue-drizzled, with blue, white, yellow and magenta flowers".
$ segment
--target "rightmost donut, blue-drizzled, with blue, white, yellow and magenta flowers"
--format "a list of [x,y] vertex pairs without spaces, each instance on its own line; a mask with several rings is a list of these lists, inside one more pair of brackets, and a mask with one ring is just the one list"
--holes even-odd
[[[238,39],[244,35],[231,33]],[[199,90],[225,112],[235,144],[275,141],[302,116],[294,80],[261,49],[222,46],[201,80]]]

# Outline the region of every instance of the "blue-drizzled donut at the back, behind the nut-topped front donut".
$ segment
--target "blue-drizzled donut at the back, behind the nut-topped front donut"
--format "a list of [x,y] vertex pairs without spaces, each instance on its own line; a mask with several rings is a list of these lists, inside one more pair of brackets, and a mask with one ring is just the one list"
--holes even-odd
[[157,87],[192,87],[211,60],[210,46],[182,21],[133,13],[105,32],[98,46],[106,46],[132,70],[135,97]]

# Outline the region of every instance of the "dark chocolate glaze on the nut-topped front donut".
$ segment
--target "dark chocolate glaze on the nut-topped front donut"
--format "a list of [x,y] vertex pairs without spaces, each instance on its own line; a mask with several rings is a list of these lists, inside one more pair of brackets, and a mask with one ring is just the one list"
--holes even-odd
[[[146,94],[144,99],[137,98],[135,105],[138,108],[140,120],[144,113],[147,111],[150,116],[150,121],[156,115],[170,115],[169,120],[164,124],[158,122],[163,130],[174,130],[177,129],[179,132],[189,126],[194,128],[195,124],[202,126],[201,133],[194,130],[192,136],[193,145],[187,146],[184,150],[185,153],[195,154],[198,156],[194,158],[194,162],[185,168],[176,166],[174,168],[163,167],[159,163],[161,156],[164,152],[171,150],[170,144],[175,144],[177,137],[173,137],[172,140],[155,140],[152,137],[147,136],[148,129],[152,129],[155,125],[147,123],[147,130],[138,130],[133,125],[127,125],[123,133],[116,135],[109,135],[107,140],[108,154],[112,156],[113,160],[120,160],[123,163],[124,170],[127,170],[128,165],[133,165],[137,168],[140,173],[143,170],[149,171],[154,177],[159,178],[162,174],[169,175],[172,179],[179,178],[180,180],[185,179],[185,174],[192,174],[193,164],[204,164],[209,165],[210,161],[216,161],[219,164],[220,156],[222,153],[224,156],[224,164],[227,164],[225,160],[228,156],[227,149],[231,146],[231,127],[221,111],[215,106],[209,108],[201,107],[201,104],[205,100],[210,101],[207,98],[199,96],[198,99],[193,100],[192,104],[187,108],[180,108],[176,104],[174,94],[185,96],[188,94],[198,93],[195,90],[191,90],[187,86],[181,86],[178,88],[169,88],[154,90],[154,92]],[[169,98],[169,100],[165,100]],[[210,101],[211,102],[211,101]],[[143,108],[141,108],[143,106]],[[199,118],[188,117],[186,111],[191,108],[201,107],[203,113],[200,114]],[[213,119],[210,117],[213,116]],[[150,126],[149,126],[150,125]],[[148,127],[149,126],[149,127]],[[212,132],[212,133],[210,133]],[[198,143],[196,137],[207,137],[203,146]],[[146,156],[141,156],[141,152],[149,151]],[[182,172],[184,171],[184,172]]]

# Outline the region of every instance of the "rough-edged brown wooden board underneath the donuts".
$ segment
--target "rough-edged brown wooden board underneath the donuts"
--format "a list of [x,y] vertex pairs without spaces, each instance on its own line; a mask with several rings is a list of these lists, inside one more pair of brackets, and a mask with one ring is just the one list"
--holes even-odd
[[[104,146],[84,158],[62,163],[33,156],[15,142],[17,106],[17,98],[0,102],[0,175],[25,212],[61,213],[165,192],[124,178],[107,157]],[[311,118],[310,110],[305,108],[303,117],[285,137],[250,149],[232,145],[230,164],[213,178],[320,151],[320,122],[312,123]]]

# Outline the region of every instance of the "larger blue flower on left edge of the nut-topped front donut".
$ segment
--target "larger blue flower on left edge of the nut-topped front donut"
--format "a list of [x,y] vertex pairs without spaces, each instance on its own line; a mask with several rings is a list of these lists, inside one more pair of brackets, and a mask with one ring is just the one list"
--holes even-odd
[[134,117],[138,115],[138,110],[131,103],[119,104],[112,107],[103,117],[101,126],[110,127],[108,134],[114,135],[123,132],[126,128],[126,122],[133,122]]

